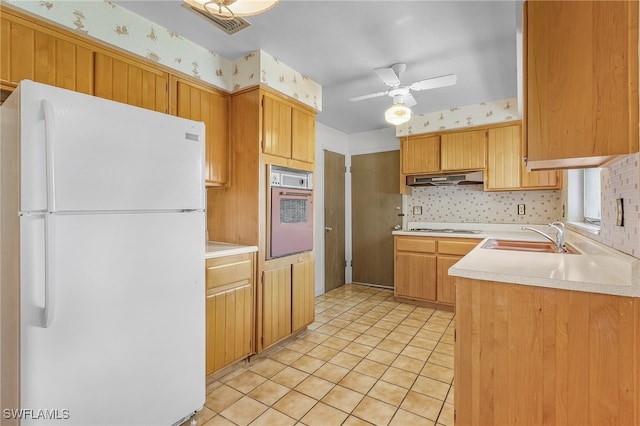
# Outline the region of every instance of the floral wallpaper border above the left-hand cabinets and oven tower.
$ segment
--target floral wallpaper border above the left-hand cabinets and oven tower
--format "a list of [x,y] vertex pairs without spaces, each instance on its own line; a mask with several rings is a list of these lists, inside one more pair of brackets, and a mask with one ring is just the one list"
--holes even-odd
[[0,1],[228,92],[260,83],[322,110],[322,86],[264,51],[228,60],[109,0]]

